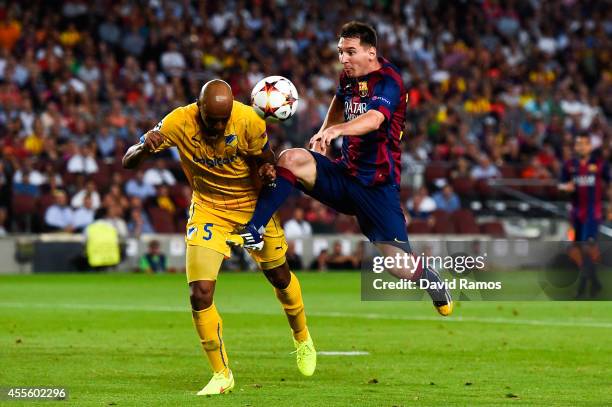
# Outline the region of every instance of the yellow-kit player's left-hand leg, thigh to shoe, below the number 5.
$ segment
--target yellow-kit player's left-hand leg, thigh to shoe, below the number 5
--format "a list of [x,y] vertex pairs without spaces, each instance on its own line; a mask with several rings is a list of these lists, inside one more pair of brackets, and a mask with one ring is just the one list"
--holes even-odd
[[187,279],[189,280],[193,324],[202,349],[213,370],[213,377],[197,394],[224,394],[234,388],[234,376],[223,343],[223,320],[213,303],[213,294],[223,255],[214,250],[187,246]]

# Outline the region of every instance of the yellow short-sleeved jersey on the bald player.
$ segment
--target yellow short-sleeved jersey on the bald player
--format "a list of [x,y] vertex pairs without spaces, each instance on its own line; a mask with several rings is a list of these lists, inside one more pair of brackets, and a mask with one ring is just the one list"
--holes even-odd
[[268,142],[266,122],[250,106],[234,101],[223,137],[206,139],[200,123],[195,103],[174,109],[154,128],[164,136],[155,152],[177,147],[195,204],[252,211],[258,190],[249,157],[261,154]]

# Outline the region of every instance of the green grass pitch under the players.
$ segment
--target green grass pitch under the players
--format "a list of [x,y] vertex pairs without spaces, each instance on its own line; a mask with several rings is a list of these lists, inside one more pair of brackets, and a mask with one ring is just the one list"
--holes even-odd
[[[78,406],[576,406],[612,403],[612,303],[361,302],[358,273],[300,273],[317,372],[295,366],[262,275],[223,273],[234,392],[210,378],[184,275],[0,277],[0,387],[61,386]],[[55,402],[1,402],[55,405]],[[49,404],[52,403],[52,404]]]

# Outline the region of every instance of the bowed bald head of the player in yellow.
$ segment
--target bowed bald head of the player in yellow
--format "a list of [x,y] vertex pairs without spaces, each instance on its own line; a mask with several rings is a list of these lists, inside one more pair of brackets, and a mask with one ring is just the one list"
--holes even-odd
[[202,86],[198,96],[198,108],[206,137],[216,139],[223,135],[233,105],[234,95],[227,82],[213,79]]

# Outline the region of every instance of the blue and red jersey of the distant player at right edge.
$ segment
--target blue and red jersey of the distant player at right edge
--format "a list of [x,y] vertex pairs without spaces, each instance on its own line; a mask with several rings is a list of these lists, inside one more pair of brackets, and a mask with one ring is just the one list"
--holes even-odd
[[588,160],[578,158],[568,160],[563,165],[561,182],[573,182],[572,194],[573,221],[601,221],[604,183],[610,182],[610,168],[602,158],[591,156]]

